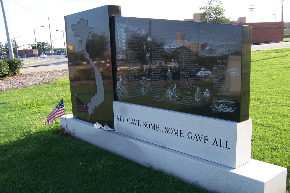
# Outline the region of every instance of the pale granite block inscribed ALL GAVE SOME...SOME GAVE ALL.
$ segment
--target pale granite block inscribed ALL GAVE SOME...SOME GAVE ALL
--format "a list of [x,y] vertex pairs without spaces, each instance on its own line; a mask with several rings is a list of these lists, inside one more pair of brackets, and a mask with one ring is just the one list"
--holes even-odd
[[231,168],[250,161],[251,119],[237,123],[120,101],[113,107],[118,133]]

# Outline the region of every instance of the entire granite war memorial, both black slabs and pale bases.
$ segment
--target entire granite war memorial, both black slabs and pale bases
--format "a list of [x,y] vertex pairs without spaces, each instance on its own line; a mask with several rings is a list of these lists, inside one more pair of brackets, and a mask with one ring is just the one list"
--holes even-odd
[[287,168],[251,159],[251,26],[120,14],[65,17],[73,115],[61,126],[209,191],[285,192]]

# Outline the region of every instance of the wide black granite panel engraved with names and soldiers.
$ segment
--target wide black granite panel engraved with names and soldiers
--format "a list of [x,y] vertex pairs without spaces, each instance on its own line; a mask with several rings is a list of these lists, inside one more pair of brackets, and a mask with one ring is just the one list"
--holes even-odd
[[249,119],[251,26],[112,18],[118,101]]

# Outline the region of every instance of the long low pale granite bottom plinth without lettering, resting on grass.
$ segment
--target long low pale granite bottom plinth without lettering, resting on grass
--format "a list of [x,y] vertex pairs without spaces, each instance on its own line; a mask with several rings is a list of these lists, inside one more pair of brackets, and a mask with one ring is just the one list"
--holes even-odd
[[287,168],[251,159],[233,169],[200,159],[115,131],[94,128],[93,124],[73,118],[60,117],[61,126],[75,133],[75,137],[104,150],[153,169],[161,169],[186,183],[193,183],[209,191],[286,192]]

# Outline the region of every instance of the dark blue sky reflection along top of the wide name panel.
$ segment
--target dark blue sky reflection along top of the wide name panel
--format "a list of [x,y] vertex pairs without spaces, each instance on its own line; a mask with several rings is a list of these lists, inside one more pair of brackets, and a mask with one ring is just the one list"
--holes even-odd
[[[151,34],[149,27],[150,20]],[[224,47],[225,44],[228,44],[231,50],[241,51],[242,26],[240,25],[128,17],[115,17],[115,21],[127,23],[139,31],[145,29],[148,36],[157,41],[164,42],[165,47],[170,45],[179,47],[192,43],[207,43]],[[133,33],[127,29],[126,39]],[[183,36],[183,40],[177,40],[177,33]]]

